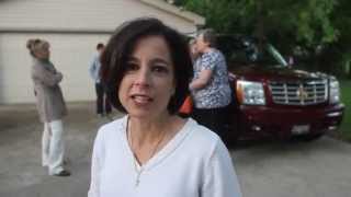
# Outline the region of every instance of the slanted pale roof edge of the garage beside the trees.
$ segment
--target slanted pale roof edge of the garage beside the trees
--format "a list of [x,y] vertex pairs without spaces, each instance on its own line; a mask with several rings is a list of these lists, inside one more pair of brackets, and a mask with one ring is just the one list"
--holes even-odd
[[169,4],[162,0],[139,0],[139,1],[145,4],[151,5],[156,9],[160,9],[162,11],[169,12],[171,14],[174,14],[174,15],[183,18],[188,21],[191,21],[195,25],[204,25],[206,22],[205,18],[203,18],[196,13],[182,10],[182,9],[180,9],[176,5]]

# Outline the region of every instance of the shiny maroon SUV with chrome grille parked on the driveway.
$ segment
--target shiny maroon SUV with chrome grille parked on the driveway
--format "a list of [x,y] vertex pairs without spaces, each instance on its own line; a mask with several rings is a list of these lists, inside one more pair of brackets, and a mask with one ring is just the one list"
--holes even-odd
[[344,105],[338,80],[288,66],[270,44],[250,37],[220,36],[234,92],[235,136],[301,136],[317,139],[340,126]]

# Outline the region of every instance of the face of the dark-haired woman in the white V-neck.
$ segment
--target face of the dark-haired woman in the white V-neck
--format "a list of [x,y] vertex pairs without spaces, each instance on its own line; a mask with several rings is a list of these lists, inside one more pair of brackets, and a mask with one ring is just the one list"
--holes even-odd
[[139,39],[118,90],[124,108],[132,117],[165,117],[174,91],[174,66],[166,40],[161,36]]

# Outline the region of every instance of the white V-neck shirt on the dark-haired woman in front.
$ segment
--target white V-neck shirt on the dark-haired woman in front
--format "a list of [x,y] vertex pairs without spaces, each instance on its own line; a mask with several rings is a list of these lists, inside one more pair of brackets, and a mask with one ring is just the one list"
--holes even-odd
[[98,132],[89,197],[241,197],[228,150],[216,134],[190,118],[147,163],[136,166],[126,121],[127,116]]

